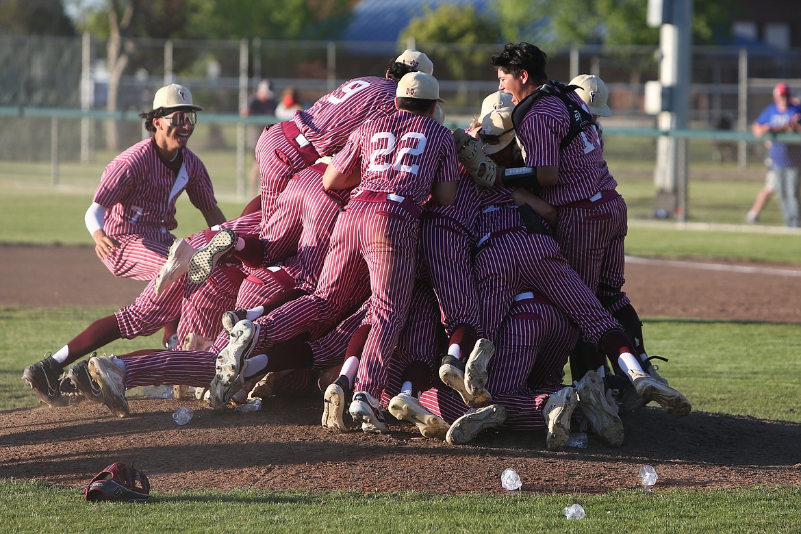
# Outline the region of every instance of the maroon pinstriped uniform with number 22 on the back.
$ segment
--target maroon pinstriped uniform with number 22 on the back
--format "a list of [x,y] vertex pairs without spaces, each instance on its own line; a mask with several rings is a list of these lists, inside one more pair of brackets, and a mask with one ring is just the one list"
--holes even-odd
[[[343,175],[360,169],[361,183],[336,220],[316,291],[258,319],[260,343],[328,327],[372,291],[372,328],[356,389],[378,396],[409,305],[418,216],[433,182],[458,179],[456,148],[450,131],[432,118],[398,111],[360,126],[332,164]],[[369,287],[360,283],[365,271]]]

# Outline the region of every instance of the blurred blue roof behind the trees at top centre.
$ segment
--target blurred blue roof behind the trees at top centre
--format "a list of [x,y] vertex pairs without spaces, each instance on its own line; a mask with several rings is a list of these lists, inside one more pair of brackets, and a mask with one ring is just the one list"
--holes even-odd
[[489,0],[363,0],[353,8],[353,20],[344,41],[396,42],[409,21],[423,14],[423,8],[441,4],[475,6],[478,13],[489,10]]

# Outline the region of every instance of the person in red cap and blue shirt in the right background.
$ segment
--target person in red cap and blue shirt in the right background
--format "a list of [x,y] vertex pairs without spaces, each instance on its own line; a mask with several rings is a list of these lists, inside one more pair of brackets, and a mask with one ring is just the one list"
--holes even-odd
[[799,167],[801,167],[801,144],[782,143],[775,138],[779,134],[801,132],[801,106],[791,97],[787,83],[779,82],[773,88],[773,103],[767,106],[751,131],[757,137],[771,141],[768,156],[775,180],[775,190],[784,213],[784,223],[788,227],[799,227]]

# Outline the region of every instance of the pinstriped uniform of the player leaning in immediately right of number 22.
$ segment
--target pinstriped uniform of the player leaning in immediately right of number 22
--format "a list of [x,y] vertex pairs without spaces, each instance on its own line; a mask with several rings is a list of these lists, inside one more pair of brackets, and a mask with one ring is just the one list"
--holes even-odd
[[[441,321],[448,335],[453,335],[460,325],[469,325],[475,335],[482,336],[472,259],[479,213],[478,194],[469,171],[461,165],[459,170],[461,181],[456,203],[427,208],[421,217],[420,259],[437,293]],[[473,345],[463,348],[469,354]]]

